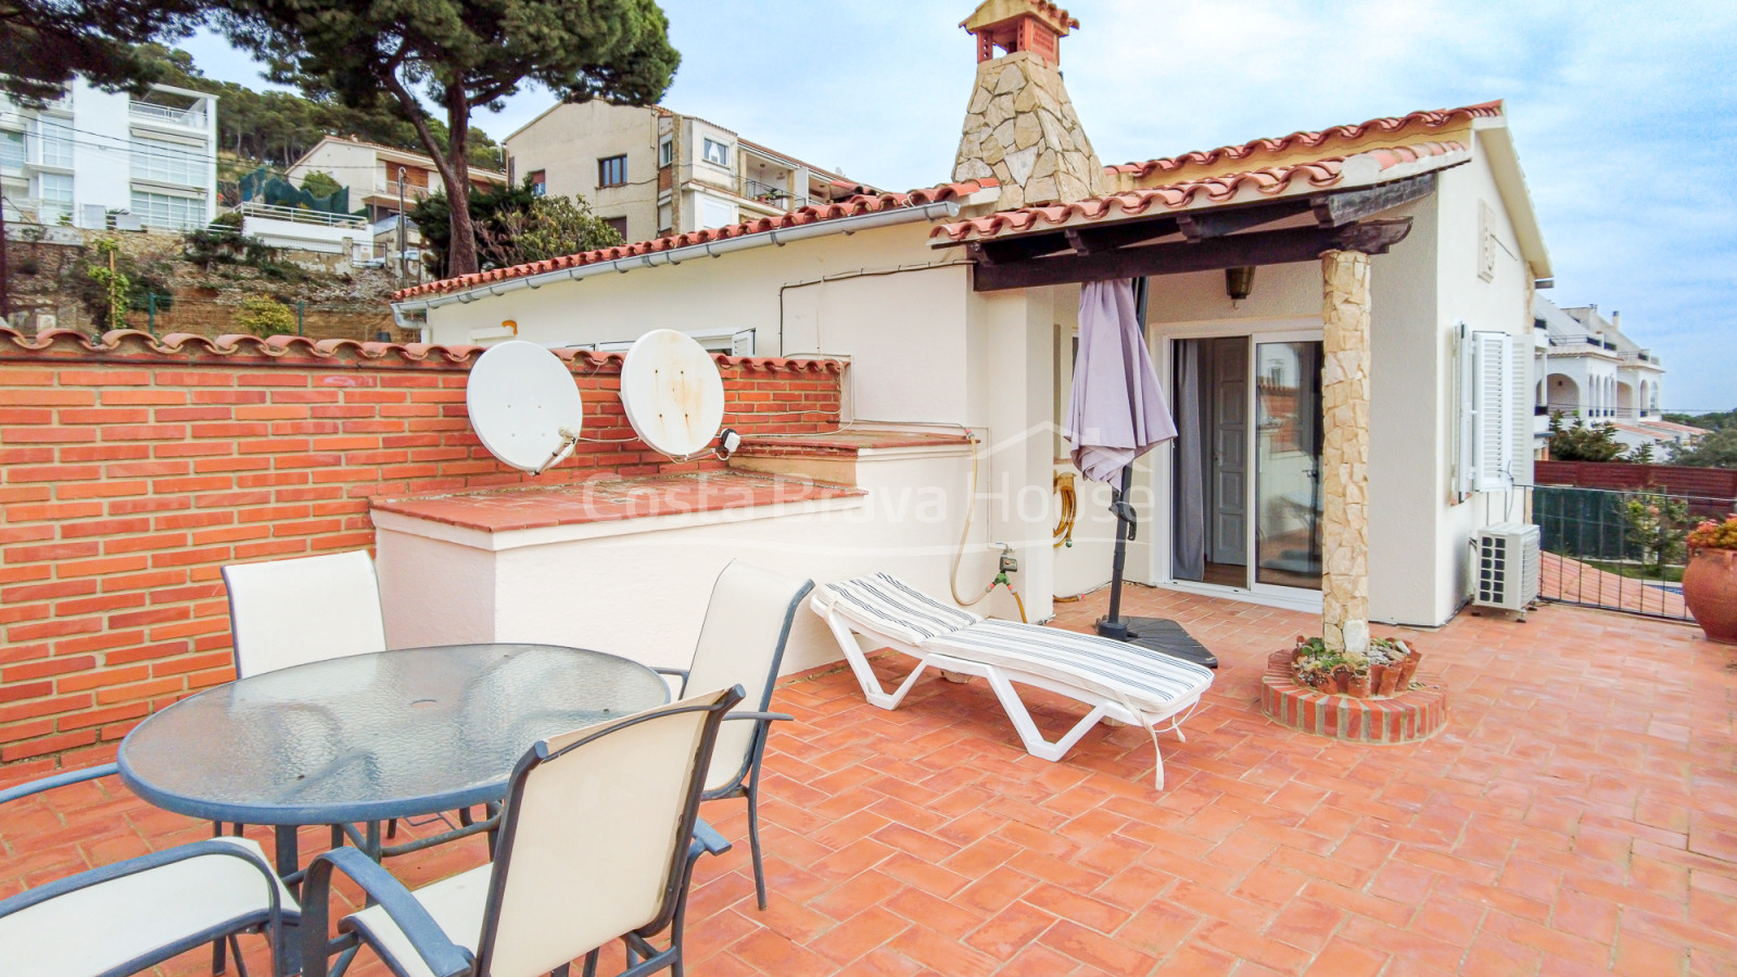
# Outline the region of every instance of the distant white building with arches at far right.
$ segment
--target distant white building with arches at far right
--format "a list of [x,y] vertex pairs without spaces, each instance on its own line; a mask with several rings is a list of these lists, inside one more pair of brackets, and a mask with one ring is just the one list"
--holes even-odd
[[1598,306],[1558,308],[1532,297],[1537,341],[1536,433],[1546,438],[1549,415],[1610,422],[1628,447],[1687,442],[1702,431],[1661,415],[1664,365],[1659,355],[1622,332],[1622,313],[1607,320]]

